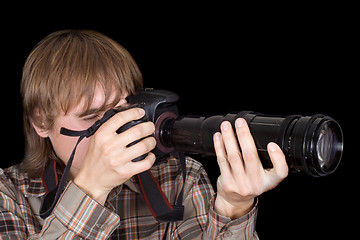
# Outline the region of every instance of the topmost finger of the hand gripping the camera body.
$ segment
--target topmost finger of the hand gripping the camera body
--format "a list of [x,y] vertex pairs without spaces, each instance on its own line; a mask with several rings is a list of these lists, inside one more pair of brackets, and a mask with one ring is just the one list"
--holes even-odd
[[106,121],[99,131],[105,134],[114,134],[124,124],[137,120],[145,115],[145,111],[142,108],[131,108],[126,111],[118,112]]

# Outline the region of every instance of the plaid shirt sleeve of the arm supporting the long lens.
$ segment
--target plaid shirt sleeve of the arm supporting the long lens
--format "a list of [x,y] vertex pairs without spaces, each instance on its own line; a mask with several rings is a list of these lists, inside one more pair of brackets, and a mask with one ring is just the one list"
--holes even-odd
[[[187,163],[191,168],[191,162]],[[174,239],[189,236],[190,239],[258,239],[255,230],[257,199],[251,211],[238,219],[221,216],[214,210],[216,194],[203,167],[188,173],[184,221],[174,227]]]

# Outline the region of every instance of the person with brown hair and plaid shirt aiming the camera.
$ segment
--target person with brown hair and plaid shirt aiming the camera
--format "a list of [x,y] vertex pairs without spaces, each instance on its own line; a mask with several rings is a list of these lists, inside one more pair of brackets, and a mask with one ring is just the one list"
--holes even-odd
[[[20,165],[0,170],[1,239],[257,238],[256,197],[279,184],[288,167],[275,143],[268,145],[274,167],[262,167],[244,119],[236,120],[236,129],[225,121],[214,134],[221,171],[216,194],[201,164],[191,158],[186,158],[184,182],[179,159],[169,156],[154,164],[151,121],[116,132],[142,118],[141,108],[115,114],[78,145],[77,138],[60,133],[61,128],[88,129],[140,88],[142,75],[130,54],[100,33],[58,31],[35,46],[21,83],[25,157]],[[49,193],[45,169],[55,163],[57,183],[72,156],[67,185],[43,219],[40,209]],[[149,169],[171,204],[183,193],[182,220],[153,217],[135,177]]]

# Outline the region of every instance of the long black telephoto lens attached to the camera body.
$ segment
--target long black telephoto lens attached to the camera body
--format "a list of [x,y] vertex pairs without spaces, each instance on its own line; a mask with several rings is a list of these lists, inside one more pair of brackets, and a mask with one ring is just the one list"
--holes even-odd
[[215,155],[214,133],[220,131],[223,121],[234,127],[239,117],[246,119],[265,168],[272,167],[267,153],[269,142],[281,147],[289,168],[296,172],[326,176],[340,163],[342,130],[334,119],[324,115],[283,117],[243,111],[225,116],[164,118],[158,123],[158,145],[162,149]]

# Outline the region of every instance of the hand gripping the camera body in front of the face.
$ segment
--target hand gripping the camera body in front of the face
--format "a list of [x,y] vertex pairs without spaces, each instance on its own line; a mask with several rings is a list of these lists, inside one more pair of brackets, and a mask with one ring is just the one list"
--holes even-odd
[[[116,130],[132,120],[143,117],[145,112],[140,108],[132,108],[115,114],[105,122],[91,137],[88,151],[74,183],[99,203],[104,204],[110,191],[130,179],[132,176],[146,171],[155,162],[153,153],[156,140],[147,137],[155,131],[152,122],[140,123],[117,134]],[[147,137],[138,143],[128,144]],[[132,162],[138,156],[148,153],[139,162]]]

